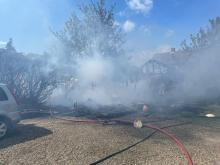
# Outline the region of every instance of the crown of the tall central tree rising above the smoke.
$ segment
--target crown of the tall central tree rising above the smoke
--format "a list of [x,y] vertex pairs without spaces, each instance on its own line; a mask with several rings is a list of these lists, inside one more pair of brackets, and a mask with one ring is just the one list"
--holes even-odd
[[80,17],[72,14],[55,36],[66,46],[67,54],[92,56],[98,50],[103,56],[119,56],[123,44],[121,28],[114,20],[114,6],[106,7],[105,0],[83,4]]

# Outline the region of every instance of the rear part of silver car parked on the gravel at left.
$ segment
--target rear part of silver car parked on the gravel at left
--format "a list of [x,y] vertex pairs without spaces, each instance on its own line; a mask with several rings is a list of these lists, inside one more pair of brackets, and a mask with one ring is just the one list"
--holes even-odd
[[5,84],[0,84],[0,139],[20,121],[18,104]]

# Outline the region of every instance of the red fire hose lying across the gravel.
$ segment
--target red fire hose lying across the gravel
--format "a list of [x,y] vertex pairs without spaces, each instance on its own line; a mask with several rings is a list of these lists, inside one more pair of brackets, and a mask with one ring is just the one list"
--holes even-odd
[[[113,122],[113,123],[119,124],[119,125],[133,125],[132,122],[123,121],[123,120],[107,120],[107,121],[105,121],[105,120],[71,120],[71,119],[64,119],[64,118],[59,118],[59,117],[55,117],[55,118],[65,120],[65,121],[86,123],[86,124],[105,124],[105,123],[107,124],[107,123]],[[177,144],[180,152],[185,157],[185,159],[188,161],[188,165],[193,165],[193,161],[192,161],[192,158],[191,158],[189,152],[187,151],[187,149],[185,148],[185,146],[183,145],[183,143],[181,142],[181,140],[178,137],[171,134],[169,131],[167,131],[163,128],[160,128],[158,126],[155,126],[155,125],[146,124],[146,125],[143,125],[143,127],[154,129],[154,130],[159,131],[162,134],[166,135],[167,137],[169,137],[172,141],[174,141]]]

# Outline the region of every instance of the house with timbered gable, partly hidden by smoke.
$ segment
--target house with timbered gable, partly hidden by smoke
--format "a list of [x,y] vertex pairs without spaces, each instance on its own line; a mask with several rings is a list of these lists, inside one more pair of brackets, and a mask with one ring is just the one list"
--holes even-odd
[[189,60],[191,52],[176,51],[155,54],[152,59],[141,67],[142,75],[150,81],[150,86],[156,95],[164,95],[175,84],[183,81],[182,67]]

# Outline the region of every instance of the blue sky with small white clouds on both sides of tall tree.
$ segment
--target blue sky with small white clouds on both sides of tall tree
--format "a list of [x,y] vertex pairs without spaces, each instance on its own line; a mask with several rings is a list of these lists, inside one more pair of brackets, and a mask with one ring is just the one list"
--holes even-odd
[[[17,50],[42,53],[72,11],[89,0],[0,0],[0,43],[10,37]],[[209,18],[220,16],[220,0],[107,0],[132,52],[178,47]]]

